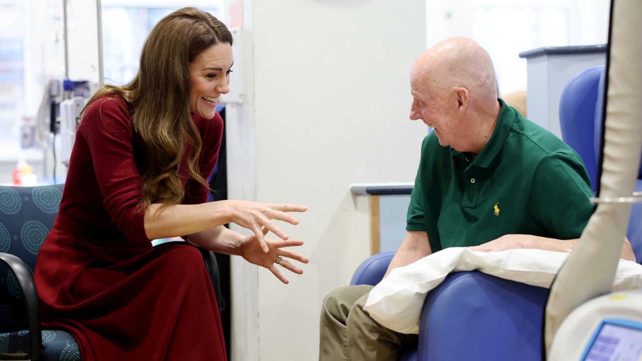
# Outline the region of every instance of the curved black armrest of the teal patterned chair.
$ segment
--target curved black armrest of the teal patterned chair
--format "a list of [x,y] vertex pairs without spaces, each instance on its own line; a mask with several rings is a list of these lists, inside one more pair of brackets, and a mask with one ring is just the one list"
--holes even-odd
[[40,311],[38,304],[38,292],[36,285],[33,283],[33,276],[27,265],[13,254],[0,252],[0,261],[2,261],[18,280],[18,284],[24,295],[24,306],[27,309],[30,339],[30,360],[38,360],[42,353],[42,335],[40,334]]

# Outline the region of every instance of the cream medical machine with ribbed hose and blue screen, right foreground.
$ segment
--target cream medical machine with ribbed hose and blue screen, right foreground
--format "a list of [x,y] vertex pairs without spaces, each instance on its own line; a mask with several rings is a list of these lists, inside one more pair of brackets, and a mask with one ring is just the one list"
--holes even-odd
[[[642,290],[612,294],[642,148],[642,24],[636,0],[612,0],[600,197],[551,286],[544,326],[548,359],[642,360]],[[638,35],[638,36],[635,36]]]

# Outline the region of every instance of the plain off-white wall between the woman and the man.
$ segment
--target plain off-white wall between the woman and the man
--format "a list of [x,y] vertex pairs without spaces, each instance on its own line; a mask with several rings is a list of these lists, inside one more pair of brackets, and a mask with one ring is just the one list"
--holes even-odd
[[232,359],[316,360],[324,295],[369,255],[349,185],[412,182],[419,163],[426,127],[408,119],[409,75],[425,49],[425,2],[244,5],[252,94],[227,112],[230,198],[309,206],[282,228],[311,261],[290,285],[232,261]]

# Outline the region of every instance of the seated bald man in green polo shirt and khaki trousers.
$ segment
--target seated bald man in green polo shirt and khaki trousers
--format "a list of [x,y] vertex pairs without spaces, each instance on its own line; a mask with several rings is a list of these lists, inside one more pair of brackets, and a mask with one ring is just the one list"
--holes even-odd
[[[406,237],[386,276],[447,247],[573,248],[593,210],[584,164],[498,98],[479,44],[458,37],[428,49],[412,67],[410,92],[410,119],[435,131],[422,143]],[[628,240],[621,257],[635,260]],[[397,360],[400,348],[416,347],[417,335],[388,330],[363,311],[371,288],[325,297],[319,360]]]

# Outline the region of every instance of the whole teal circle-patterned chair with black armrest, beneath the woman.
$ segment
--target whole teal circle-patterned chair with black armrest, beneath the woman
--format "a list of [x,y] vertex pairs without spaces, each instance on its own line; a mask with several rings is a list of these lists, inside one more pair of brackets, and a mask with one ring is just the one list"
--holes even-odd
[[40,330],[33,269],[58,213],[63,185],[0,186],[0,359],[80,361],[76,340]]

